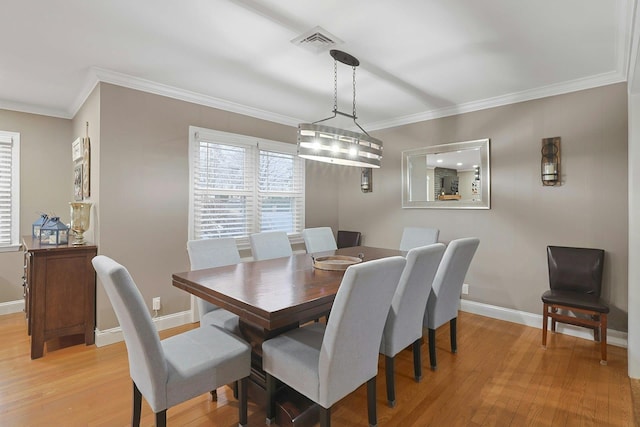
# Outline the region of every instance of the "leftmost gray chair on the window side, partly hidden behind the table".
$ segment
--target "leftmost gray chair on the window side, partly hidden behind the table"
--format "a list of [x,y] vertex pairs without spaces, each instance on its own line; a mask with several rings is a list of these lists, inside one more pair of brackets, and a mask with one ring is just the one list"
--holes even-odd
[[[191,270],[222,267],[238,264],[240,254],[233,237],[189,240],[187,252]],[[196,300],[200,314],[200,325],[214,325],[240,336],[239,317],[201,298]]]

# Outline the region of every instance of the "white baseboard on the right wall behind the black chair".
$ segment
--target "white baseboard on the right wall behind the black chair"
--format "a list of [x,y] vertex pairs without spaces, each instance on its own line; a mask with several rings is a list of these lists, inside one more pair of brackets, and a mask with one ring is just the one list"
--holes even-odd
[[[518,323],[520,325],[531,326],[534,328],[542,327],[542,314],[527,313],[524,311],[513,310],[510,308],[498,307],[495,305],[483,304],[475,301],[460,300],[460,309],[473,314],[491,317],[507,322]],[[573,325],[565,325],[558,323],[556,332],[573,337],[593,340],[593,334],[587,328],[580,328]],[[616,347],[627,348],[627,333],[613,329],[607,329],[607,344]]]

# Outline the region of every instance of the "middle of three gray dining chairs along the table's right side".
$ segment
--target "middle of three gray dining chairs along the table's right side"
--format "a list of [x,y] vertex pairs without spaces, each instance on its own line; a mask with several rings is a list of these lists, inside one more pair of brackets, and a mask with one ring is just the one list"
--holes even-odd
[[380,344],[380,353],[385,355],[387,400],[390,407],[396,404],[395,356],[410,345],[413,346],[415,379],[420,381],[422,378],[422,319],[444,250],[445,245],[435,243],[413,248],[407,254],[407,265],[393,295]]

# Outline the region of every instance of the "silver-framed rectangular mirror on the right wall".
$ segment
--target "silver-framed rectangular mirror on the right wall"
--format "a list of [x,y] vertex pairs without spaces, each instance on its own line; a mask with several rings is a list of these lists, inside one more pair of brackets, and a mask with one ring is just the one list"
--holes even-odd
[[489,209],[489,139],[402,152],[402,207]]

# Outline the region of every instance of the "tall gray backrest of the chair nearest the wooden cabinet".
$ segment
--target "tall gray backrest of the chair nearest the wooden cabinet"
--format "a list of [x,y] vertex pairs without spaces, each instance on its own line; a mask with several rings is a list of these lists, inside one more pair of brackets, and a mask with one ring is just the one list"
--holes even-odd
[[122,328],[131,379],[148,401],[166,405],[169,368],[140,291],[127,269],[111,258],[98,255],[91,262]]

